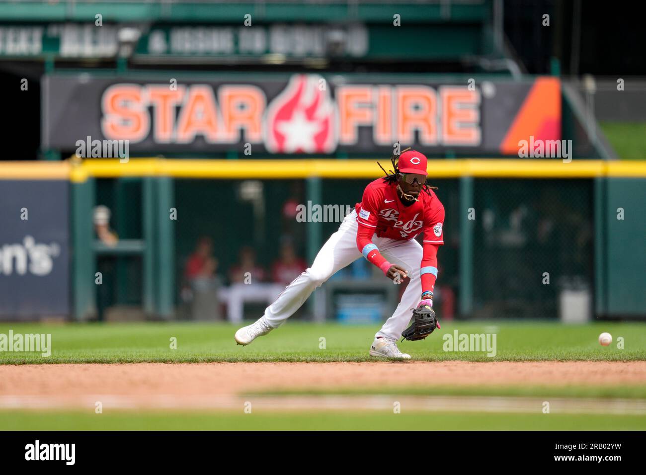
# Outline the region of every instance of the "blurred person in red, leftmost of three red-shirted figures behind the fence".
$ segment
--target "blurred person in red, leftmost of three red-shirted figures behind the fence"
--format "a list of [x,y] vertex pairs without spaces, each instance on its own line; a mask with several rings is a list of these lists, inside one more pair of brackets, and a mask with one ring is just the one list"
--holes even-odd
[[213,240],[201,237],[194,253],[186,261],[184,277],[188,287],[182,291],[185,301],[191,302],[193,320],[220,320],[218,290],[220,278],[216,275],[218,260],[213,257]]

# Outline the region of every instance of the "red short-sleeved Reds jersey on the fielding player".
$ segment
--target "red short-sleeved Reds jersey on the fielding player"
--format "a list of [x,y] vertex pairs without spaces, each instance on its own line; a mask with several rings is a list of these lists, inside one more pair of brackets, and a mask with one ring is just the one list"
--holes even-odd
[[357,203],[357,222],[375,228],[377,237],[406,240],[424,233],[424,242],[444,244],[444,206],[429,190],[421,191],[418,201],[404,206],[397,196],[397,183],[382,178],[370,182]]

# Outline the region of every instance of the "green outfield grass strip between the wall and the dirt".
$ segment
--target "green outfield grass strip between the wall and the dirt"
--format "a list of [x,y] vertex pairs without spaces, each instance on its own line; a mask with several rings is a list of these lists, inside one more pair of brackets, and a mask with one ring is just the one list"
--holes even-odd
[[[197,363],[209,361],[373,361],[368,349],[375,326],[287,322],[250,346],[236,346],[229,324],[0,324],[0,333],[51,333],[52,354],[0,352],[2,364],[25,363]],[[496,355],[445,352],[443,335],[495,333]],[[600,346],[601,332],[614,341]],[[177,348],[171,349],[171,338]],[[624,348],[617,348],[623,337]],[[321,339],[325,348],[320,348]],[[646,360],[646,324],[595,322],[566,326],[557,322],[443,322],[426,340],[400,343],[403,352],[425,361],[634,361]]]

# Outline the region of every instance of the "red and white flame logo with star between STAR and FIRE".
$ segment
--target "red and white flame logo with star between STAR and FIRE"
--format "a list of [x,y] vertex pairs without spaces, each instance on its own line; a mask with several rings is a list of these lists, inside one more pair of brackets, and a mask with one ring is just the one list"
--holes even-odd
[[332,153],[337,108],[324,79],[297,74],[267,109],[265,145],[271,153]]

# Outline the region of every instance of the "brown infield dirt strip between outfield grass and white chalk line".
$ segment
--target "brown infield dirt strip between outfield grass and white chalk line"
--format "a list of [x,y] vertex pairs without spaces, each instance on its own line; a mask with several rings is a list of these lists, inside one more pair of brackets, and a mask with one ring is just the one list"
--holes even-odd
[[645,382],[646,361],[8,365],[0,366],[0,408],[227,408],[240,393],[263,390]]

